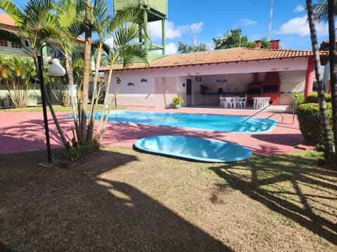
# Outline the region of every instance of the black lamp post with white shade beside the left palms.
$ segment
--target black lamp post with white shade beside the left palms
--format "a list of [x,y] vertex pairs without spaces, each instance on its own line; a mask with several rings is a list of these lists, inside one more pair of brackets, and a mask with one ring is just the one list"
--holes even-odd
[[[47,44],[46,44],[47,45]],[[41,102],[42,102],[42,109],[44,111],[44,131],[46,132],[46,147],[47,147],[47,155],[48,155],[48,162],[39,163],[40,166],[49,167],[53,164],[53,159],[51,158],[51,142],[49,138],[49,129],[48,129],[48,117],[47,117],[47,108],[46,108],[46,90],[44,88],[44,73],[43,73],[43,59],[42,59],[42,48],[41,47],[41,55],[37,56],[37,63],[39,67],[39,83],[41,89]],[[51,47],[51,45],[48,45]],[[52,48],[52,47],[51,47]],[[48,73],[50,76],[64,76],[65,69],[60,64],[60,60],[56,58],[56,52],[54,48],[55,58],[53,58],[51,66],[49,66]]]

